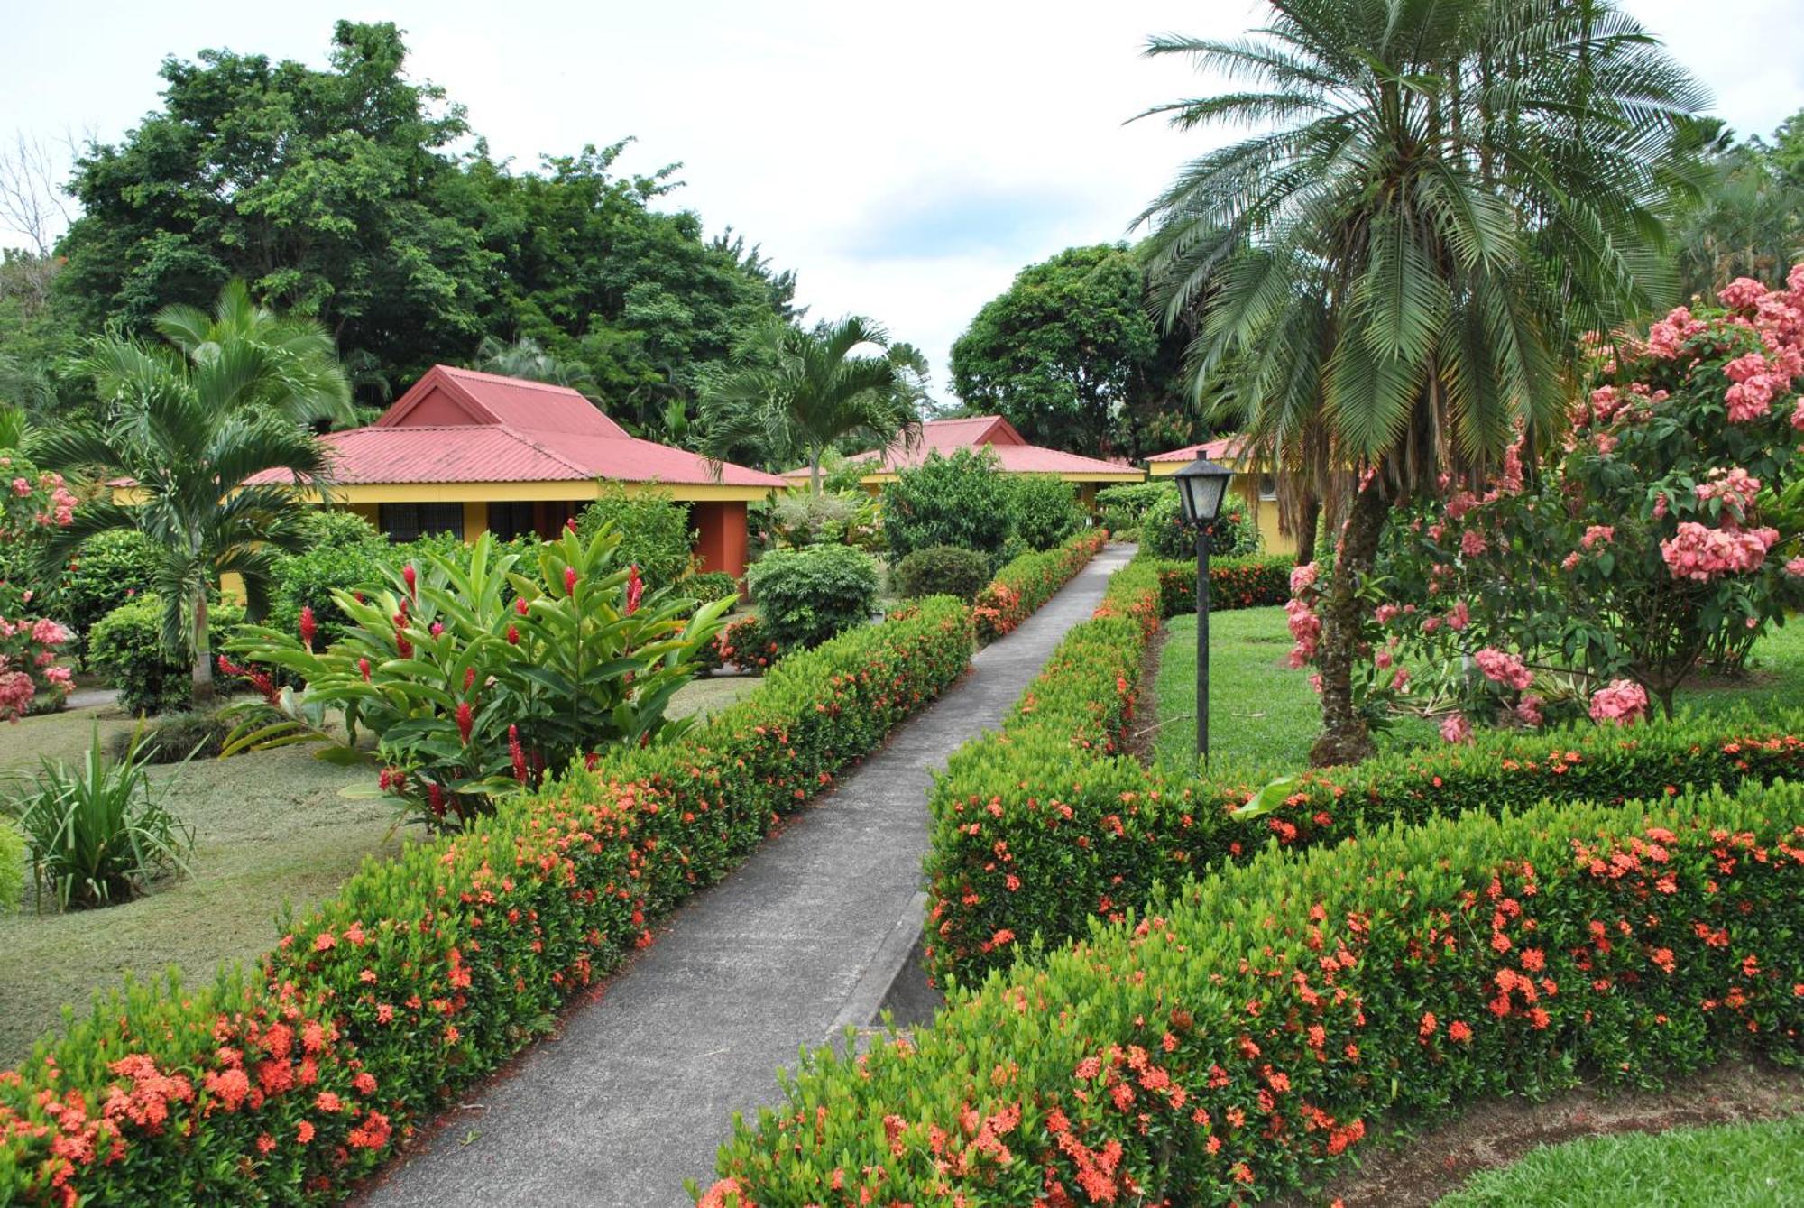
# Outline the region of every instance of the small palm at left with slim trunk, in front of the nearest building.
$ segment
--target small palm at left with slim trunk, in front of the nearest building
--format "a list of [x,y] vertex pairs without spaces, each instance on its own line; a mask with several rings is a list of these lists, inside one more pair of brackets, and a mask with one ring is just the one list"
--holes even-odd
[[[283,339],[269,339],[267,319],[247,321],[233,292],[227,287],[218,321],[206,326],[193,314],[159,316],[171,346],[97,339],[85,368],[106,418],[38,431],[29,442],[41,465],[130,480],[123,499],[103,489],[78,507],[74,523],[51,534],[43,559],[61,566],[97,532],[143,532],[157,555],[164,647],[193,654],[198,698],[213,692],[209,593],[220,575],[236,573],[247,613],[263,613],[274,559],[307,543],[301,490],[323,490],[328,480],[325,445],[301,420],[325,415],[323,400],[348,400],[343,373],[332,382],[336,361],[299,364],[319,352],[305,332],[289,330],[294,321],[276,321]],[[265,481],[251,481],[256,476]]]

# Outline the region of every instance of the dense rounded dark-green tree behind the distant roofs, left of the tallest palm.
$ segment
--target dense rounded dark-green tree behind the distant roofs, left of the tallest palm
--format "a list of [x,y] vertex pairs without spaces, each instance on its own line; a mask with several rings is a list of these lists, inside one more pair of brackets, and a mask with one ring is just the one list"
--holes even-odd
[[1160,339],[1126,245],[1070,247],[976,314],[953,344],[953,389],[1034,444],[1142,456],[1158,453],[1142,438],[1176,393],[1180,346]]

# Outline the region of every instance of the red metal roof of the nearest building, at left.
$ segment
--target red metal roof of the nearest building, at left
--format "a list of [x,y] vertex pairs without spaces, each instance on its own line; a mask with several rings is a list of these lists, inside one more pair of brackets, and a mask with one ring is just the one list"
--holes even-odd
[[[368,427],[319,438],[332,478],[370,483],[658,481],[787,487],[776,474],[628,436],[568,386],[435,364]],[[253,481],[278,481],[265,472]]]

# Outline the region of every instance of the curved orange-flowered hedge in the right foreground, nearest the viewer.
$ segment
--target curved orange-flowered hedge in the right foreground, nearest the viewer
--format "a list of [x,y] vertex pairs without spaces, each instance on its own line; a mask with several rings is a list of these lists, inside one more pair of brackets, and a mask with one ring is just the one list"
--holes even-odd
[[1221,1204],[1499,1093],[1795,1062],[1804,790],[1268,851],[817,1051],[702,1204]]

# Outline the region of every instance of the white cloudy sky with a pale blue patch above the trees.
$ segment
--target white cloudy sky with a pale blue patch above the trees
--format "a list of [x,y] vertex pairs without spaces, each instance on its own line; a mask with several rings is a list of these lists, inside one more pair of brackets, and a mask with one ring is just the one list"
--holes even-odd
[[[1804,108],[1797,0],[1625,0],[1741,132]],[[411,70],[500,155],[633,135],[622,168],[684,164],[680,206],[796,269],[815,316],[870,314],[947,348],[1023,265],[1118,240],[1209,144],[1149,105],[1207,87],[1138,56],[1147,34],[1232,36],[1261,4],[759,0],[514,4],[41,4],[0,16],[0,135],[117,139],[157,105],[164,54],[325,61],[337,16],[393,20]],[[5,240],[0,234],[0,240]],[[16,240],[11,240],[16,242]]]

